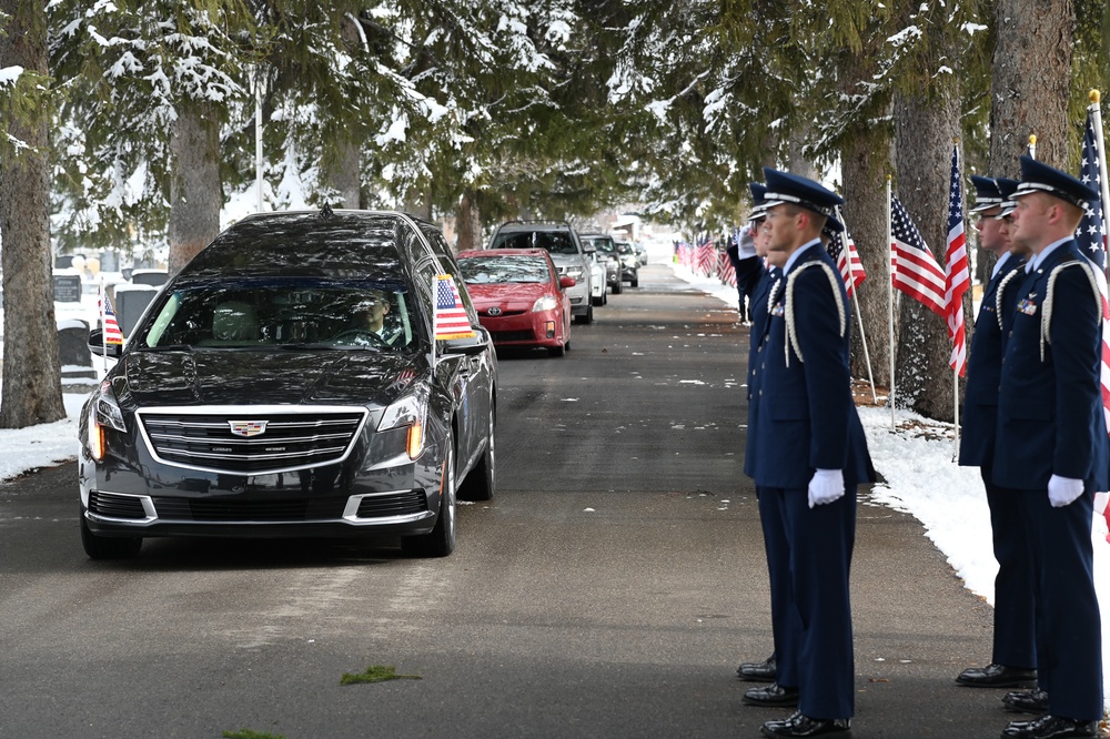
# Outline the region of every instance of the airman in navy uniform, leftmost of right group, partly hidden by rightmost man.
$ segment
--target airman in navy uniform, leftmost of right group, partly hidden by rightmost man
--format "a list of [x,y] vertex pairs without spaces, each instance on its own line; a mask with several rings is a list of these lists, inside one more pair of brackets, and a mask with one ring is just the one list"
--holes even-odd
[[[959,463],[977,466],[990,509],[991,543],[998,560],[995,578],[995,640],[987,667],[972,667],[956,678],[960,685],[981,688],[1030,687],[1037,677],[1037,638],[1033,607],[1033,563],[1021,515],[1010,492],[993,483],[995,426],[998,385],[1002,375],[1001,316],[1011,317],[1017,303],[1015,280],[1025,276],[1026,261],[1010,252],[1002,207],[1018,188],[1017,180],[971,175],[976,189],[979,247],[998,256],[982,292],[975,335],[968,355],[963,395],[963,433]],[[1001,285],[1006,290],[999,290]]]

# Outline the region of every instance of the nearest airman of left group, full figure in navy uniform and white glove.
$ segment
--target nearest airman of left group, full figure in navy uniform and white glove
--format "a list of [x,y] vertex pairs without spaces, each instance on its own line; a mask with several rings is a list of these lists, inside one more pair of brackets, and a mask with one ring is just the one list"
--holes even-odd
[[[763,726],[767,737],[850,736],[855,712],[848,571],[856,487],[874,480],[849,374],[849,311],[820,233],[841,199],[769,168],[769,250],[786,257],[768,296],[746,472],[755,479],[768,566],[786,563],[797,613],[798,710]],[[766,508],[764,497],[768,498]],[[773,549],[774,554],[773,554]],[[776,648],[779,644],[776,642]],[[784,661],[779,655],[778,679]],[[781,686],[779,686],[781,687]]]

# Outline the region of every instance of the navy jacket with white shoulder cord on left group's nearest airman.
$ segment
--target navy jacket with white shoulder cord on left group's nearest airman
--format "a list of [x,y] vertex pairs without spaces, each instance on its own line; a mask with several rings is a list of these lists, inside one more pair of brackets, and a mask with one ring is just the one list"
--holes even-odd
[[840,273],[814,243],[784,276],[771,293],[757,360],[746,472],[757,487],[804,489],[815,469],[842,469],[847,485],[872,482],[851,396],[850,315]]

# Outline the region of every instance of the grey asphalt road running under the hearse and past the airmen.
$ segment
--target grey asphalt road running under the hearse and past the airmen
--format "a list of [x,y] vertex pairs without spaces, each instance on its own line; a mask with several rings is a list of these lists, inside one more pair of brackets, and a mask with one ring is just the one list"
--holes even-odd
[[[789,710],[735,677],[771,649],[746,352],[734,311],[648,265],[565,357],[503,355],[498,493],[445,559],[149,540],[93,563],[73,465],[0,486],[0,737],[758,736]],[[852,594],[857,738],[1019,718],[952,682],[991,611],[915,519],[860,506]],[[371,665],[421,679],[340,684]]]

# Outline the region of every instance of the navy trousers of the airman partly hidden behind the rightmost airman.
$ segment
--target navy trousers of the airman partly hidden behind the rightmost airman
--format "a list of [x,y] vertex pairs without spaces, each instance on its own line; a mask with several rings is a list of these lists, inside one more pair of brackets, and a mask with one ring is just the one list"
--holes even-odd
[[[1037,617],[1033,594],[1033,553],[1018,493],[991,482],[991,465],[980,468],[990,509],[991,544],[998,561],[995,577],[995,644],[991,662],[1021,669],[1037,668]],[[1041,686],[1043,689],[1045,686]]]

